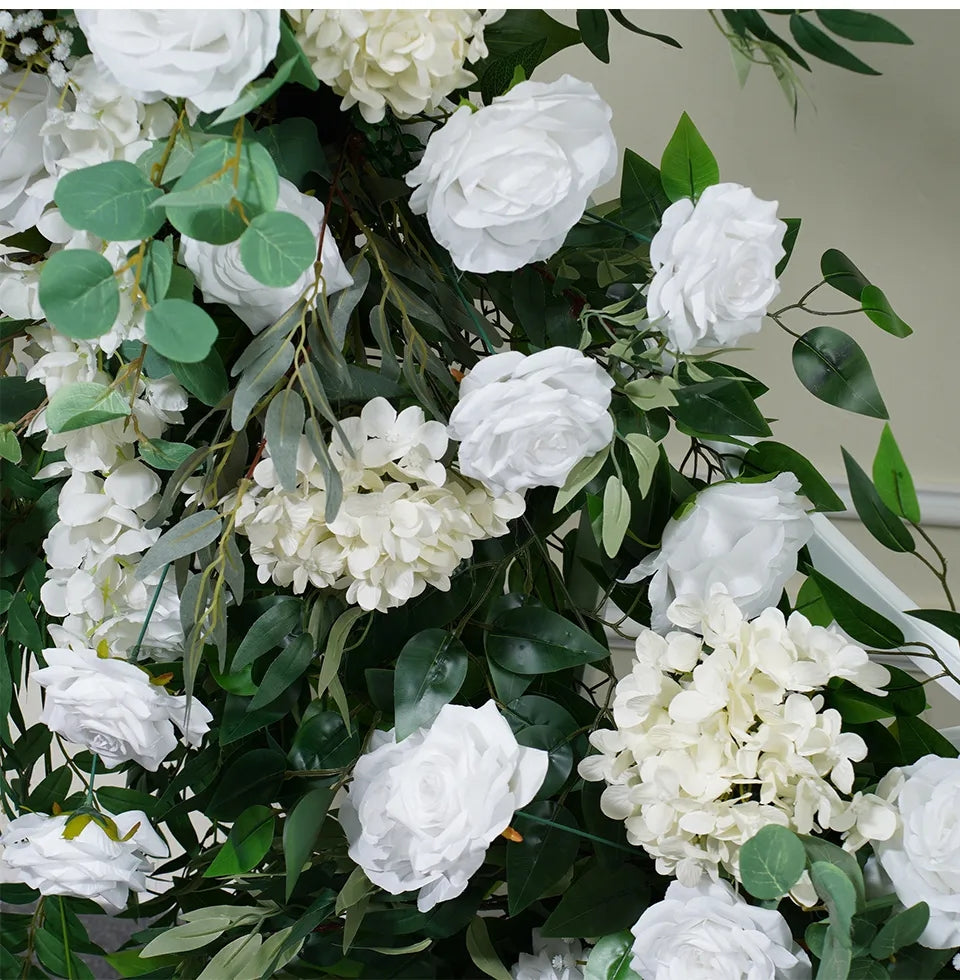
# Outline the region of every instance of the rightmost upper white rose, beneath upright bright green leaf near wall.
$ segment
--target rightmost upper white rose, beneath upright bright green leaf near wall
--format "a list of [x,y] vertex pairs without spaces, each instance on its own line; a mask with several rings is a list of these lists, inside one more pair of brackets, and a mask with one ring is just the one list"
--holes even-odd
[[740,184],[714,184],[696,205],[671,204],[650,244],[650,321],[682,353],[756,333],[780,291],[786,230],[777,202]]

